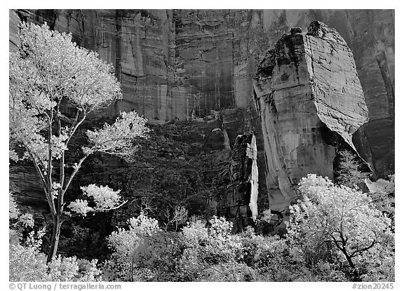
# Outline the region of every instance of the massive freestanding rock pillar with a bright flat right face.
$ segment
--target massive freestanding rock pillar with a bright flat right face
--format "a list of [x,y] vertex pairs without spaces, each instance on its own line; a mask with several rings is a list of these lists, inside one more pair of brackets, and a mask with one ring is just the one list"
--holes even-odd
[[255,79],[267,156],[271,210],[289,203],[309,173],[333,179],[339,147],[368,121],[368,109],[346,42],[322,22],[307,34],[292,29],[270,50]]

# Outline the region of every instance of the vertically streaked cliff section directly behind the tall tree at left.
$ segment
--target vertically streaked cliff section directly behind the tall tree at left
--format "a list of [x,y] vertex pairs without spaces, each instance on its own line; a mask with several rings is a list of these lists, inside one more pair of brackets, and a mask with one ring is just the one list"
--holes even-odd
[[[123,100],[96,117],[135,109],[150,122],[187,119],[184,89],[175,84],[175,24],[170,10],[37,10],[11,11],[15,20],[43,23],[72,32],[79,46],[95,50],[115,67]],[[11,38],[15,43],[15,37]],[[93,115],[95,116],[95,115]]]

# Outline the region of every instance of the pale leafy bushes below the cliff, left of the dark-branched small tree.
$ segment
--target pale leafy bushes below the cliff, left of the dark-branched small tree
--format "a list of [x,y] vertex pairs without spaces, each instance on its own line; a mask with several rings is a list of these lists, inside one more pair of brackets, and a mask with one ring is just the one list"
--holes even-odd
[[231,224],[222,217],[208,225],[195,220],[180,233],[157,225],[140,215],[129,231],[109,237],[114,252],[105,264],[105,280],[349,280],[333,264],[309,266],[302,254],[290,251],[286,239],[257,236],[252,228],[231,234]]

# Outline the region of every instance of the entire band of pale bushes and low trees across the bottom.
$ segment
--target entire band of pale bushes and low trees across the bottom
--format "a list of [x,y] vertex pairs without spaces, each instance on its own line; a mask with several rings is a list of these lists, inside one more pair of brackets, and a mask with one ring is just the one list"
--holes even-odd
[[[391,181],[374,189],[391,193]],[[191,218],[180,231],[167,231],[141,213],[107,238],[112,254],[98,266],[60,256],[47,265],[43,231],[29,231],[32,220],[11,199],[10,280],[394,280],[391,212],[373,203],[373,195],[308,175],[282,238],[251,227],[233,234],[223,217]]]

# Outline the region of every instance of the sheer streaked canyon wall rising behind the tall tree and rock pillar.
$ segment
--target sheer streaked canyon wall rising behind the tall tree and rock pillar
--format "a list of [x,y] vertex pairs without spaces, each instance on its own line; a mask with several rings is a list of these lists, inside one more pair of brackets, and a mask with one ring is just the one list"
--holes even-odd
[[335,27],[352,50],[369,111],[354,144],[385,177],[394,169],[394,11],[20,9],[10,11],[10,48],[20,21],[48,22],[112,62],[123,100],[94,118],[135,109],[150,123],[210,124],[221,115],[231,144],[239,134],[255,133],[262,195],[267,158],[253,77],[284,33],[306,32],[313,20]]

